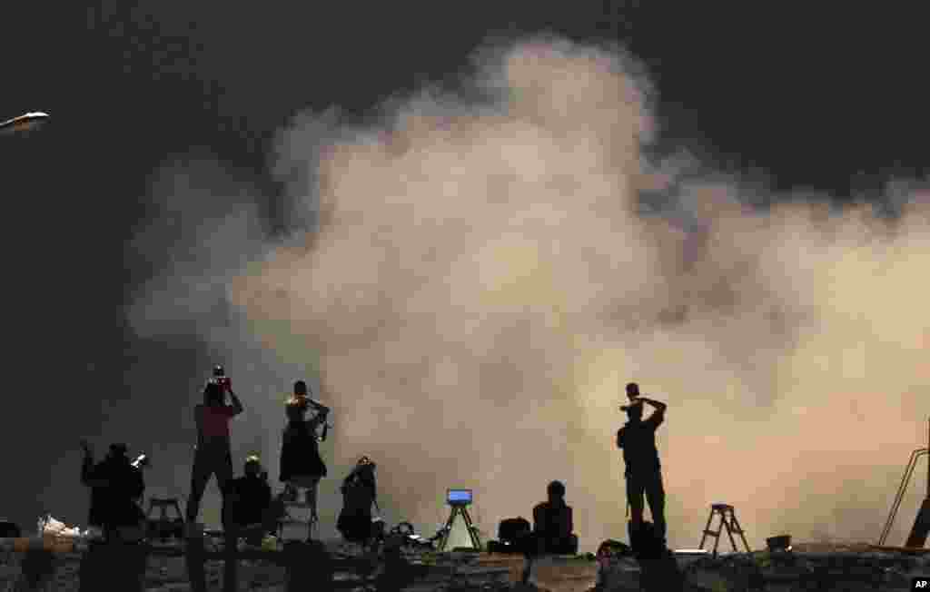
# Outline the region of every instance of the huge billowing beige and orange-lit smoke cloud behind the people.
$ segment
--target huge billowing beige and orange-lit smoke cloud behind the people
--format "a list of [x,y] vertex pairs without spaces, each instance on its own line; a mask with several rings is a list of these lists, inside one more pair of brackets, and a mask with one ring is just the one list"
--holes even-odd
[[[387,517],[428,533],[446,487],[475,490],[490,532],[557,479],[583,547],[624,537],[614,438],[635,380],[669,403],[672,545],[696,545],[719,501],[753,546],[873,540],[926,439],[926,194],[907,188],[888,219],[656,161],[646,82],[618,51],[534,39],[365,124],[301,115],[274,171],[288,236],[268,237],[238,184],[156,189],[183,195],[170,207],[193,226],[132,318],[248,370],[259,395],[237,438],[272,459],[281,392],[318,372],[329,524],[337,480],[369,454]],[[212,217],[198,193],[246,198]]]

